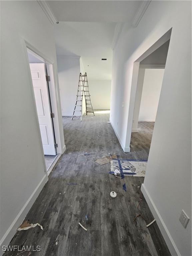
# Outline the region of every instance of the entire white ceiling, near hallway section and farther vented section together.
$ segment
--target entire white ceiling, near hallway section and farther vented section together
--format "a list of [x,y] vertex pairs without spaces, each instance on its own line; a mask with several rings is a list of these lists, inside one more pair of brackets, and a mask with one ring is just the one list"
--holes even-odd
[[[119,22],[132,23],[142,1],[47,1],[58,56],[81,56],[91,80],[111,80],[112,41]],[[106,61],[102,61],[106,58]]]

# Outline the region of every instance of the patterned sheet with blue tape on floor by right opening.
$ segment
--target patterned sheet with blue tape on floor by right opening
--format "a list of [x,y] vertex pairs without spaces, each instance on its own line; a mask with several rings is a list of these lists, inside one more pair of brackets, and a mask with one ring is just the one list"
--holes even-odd
[[145,177],[145,171],[147,167],[147,161],[141,160],[129,160],[129,159],[112,159],[111,160],[111,171],[109,173],[116,174],[116,170],[120,171],[117,176],[134,176],[134,177]]

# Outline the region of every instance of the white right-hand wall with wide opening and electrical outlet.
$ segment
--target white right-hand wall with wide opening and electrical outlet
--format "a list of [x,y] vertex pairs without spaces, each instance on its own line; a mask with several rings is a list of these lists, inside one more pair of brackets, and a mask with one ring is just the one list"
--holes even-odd
[[133,63],[171,28],[142,191],[172,255],[189,256],[191,220],[185,229],[179,216],[183,209],[191,219],[190,1],[151,1],[136,28],[123,27],[113,53],[110,121],[126,150],[136,93]]

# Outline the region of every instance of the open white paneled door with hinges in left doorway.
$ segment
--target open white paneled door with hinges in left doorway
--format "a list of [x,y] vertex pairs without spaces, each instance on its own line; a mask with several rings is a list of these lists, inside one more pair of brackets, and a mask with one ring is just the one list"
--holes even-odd
[[56,155],[44,63],[31,63],[31,77],[44,155]]

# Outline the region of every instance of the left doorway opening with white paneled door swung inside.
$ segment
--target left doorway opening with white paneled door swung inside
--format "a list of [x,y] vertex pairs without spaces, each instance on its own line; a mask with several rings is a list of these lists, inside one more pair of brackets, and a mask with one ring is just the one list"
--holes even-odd
[[31,50],[27,49],[31,79],[35,97],[36,111],[41,133],[44,158],[47,171],[57,158],[57,144],[54,130],[54,113],[52,113],[51,98],[46,62]]

